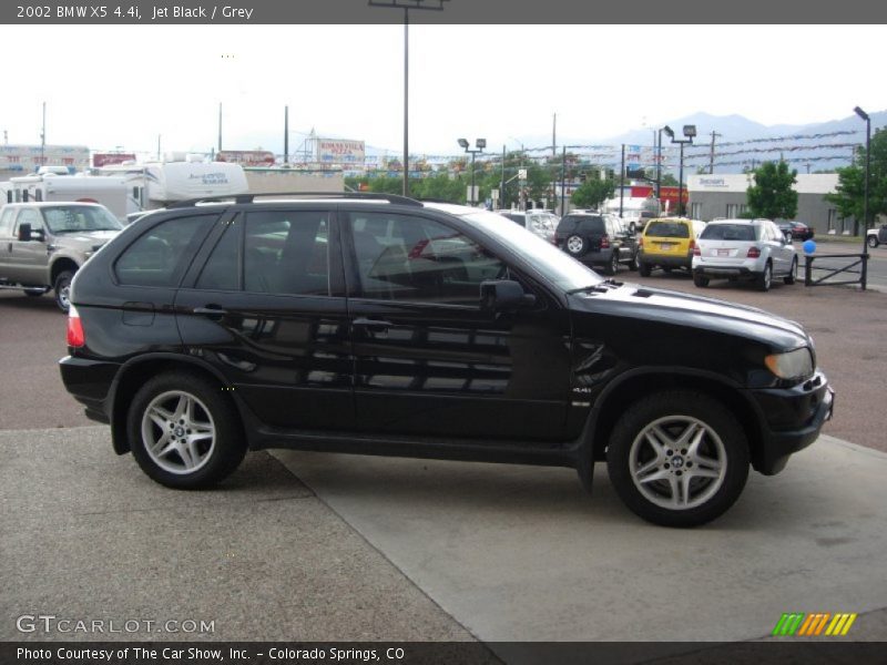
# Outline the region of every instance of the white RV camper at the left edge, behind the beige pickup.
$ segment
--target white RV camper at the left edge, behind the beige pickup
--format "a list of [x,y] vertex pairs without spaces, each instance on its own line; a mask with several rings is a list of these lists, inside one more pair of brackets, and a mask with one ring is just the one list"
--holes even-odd
[[126,218],[126,180],[91,175],[60,175],[51,167],[40,173],[9,178],[4,202],[74,201],[101,203],[121,222]]

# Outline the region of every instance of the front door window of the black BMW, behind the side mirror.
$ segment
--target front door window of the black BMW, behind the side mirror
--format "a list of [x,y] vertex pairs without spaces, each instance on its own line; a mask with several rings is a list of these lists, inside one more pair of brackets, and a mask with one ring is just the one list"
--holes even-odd
[[356,213],[351,228],[367,298],[479,306],[480,283],[504,273],[485,248],[432,219]]

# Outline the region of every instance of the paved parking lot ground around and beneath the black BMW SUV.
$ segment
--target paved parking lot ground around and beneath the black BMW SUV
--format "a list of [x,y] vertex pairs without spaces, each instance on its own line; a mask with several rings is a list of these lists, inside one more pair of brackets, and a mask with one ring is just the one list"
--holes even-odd
[[837,402],[819,442],[693,531],[639,521],[603,468],[589,499],[563,469],[262,452],[218,490],[163,489],[64,391],[51,297],[0,293],[0,640],[114,638],[16,626],[45,613],[214,623],[126,640],[738,641],[793,611],[859,613],[849,637],[884,640],[887,294],[704,293],[803,323]]

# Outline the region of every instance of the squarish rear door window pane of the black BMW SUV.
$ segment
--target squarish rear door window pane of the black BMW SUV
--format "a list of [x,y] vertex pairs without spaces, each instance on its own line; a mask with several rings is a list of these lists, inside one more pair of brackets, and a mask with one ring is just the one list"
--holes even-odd
[[329,214],[268,211],[246,216],[244,289],[329,294]]

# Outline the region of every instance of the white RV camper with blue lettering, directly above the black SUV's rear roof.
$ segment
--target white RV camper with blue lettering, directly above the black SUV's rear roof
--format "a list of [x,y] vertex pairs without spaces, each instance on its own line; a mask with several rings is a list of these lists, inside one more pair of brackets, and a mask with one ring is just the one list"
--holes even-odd
[[130,213],[165,207],[187,198],[231,196],[249,191],[239,164],[197,158],[202,157],[173,153],[163,162],[109,164],[93,173],[125,177]]

